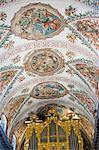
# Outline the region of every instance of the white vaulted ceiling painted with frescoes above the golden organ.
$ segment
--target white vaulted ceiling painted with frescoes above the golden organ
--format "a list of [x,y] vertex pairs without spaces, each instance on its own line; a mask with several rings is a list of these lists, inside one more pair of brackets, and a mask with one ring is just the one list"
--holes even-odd
[[28,117],[52,106],[81,118],[92,138],[99,101],[98,26],[98,12],[75,0],[0,6],[0,116],[6,116],[7,135],[14,134],[17,145]]

